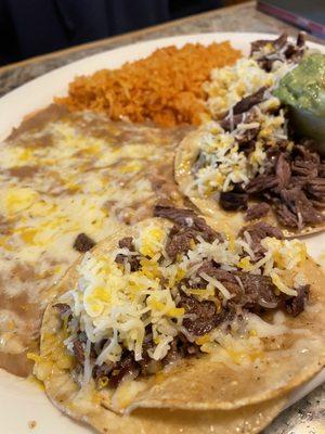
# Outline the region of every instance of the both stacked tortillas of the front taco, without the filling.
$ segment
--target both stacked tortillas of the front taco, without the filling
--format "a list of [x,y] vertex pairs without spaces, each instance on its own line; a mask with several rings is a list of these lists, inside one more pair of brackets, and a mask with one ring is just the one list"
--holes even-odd
[[[165,231],[172,227],[168,220],[154,218],[133,227],[121,228],[120,232],[95,246],[92,256],[95,258],[105,257],[105,255],[116,251],[119,240],[125,237],[138,237],[145,228],[153,225],[155,228]],[[99,422],[102,420],[102,413],[105,414],[104,419],[107,419],[108,424],[114,424],[115,420],[123,421],[116,422],[118,424],[129,423],[125,422],[129,419],[118,419],[112,411],[119,414],[129,414],[130,412],[133,414],[135,411],[134,423],[139,423],[140,426],[142,423],[148,423],[145,422],[147,418],[155,419],[153,414],[156,414],[156,410],[154,413],[152,411],[139,412],[139,408],[166,408],[178,411],[240,409],[233,413],[234,417],[237,418],[238,414],[242,414],[240,411],[244,411],[244,413],[248,411],[247,418],[252,418],[253,425],[256,410],[250,416],[250,409],[256,408],[255,405],[260,404],[265,407],[266,414],[275,414],[280,410],[277,399],[308,381],[324,366],[325,294],[322,291],[324,275],[321,268],[308,258],[299,269],[299,272],[304,276],[304,280],[310,284],[310,299],[307,308],[296,318],[282,314],[282,332],[265,337],[263,346],[259,348],[259,354],[249,355],[250,362],[240,363],[236,359],[233,361],[231,358],[222,358],[221,354],[224,353],[224,348],[216,346],[212,354],[182,358],[155,375],[141,380],[127,380],[117,387],[114,397],[112,397],[109,388],[96,388],[92,379],[88,384],[81,386],[78,382],[75,382],[75,360],[74,357],[67,355],[64,345],[64,340],[67,336],[62,330],[62,320],[54,307],[60,303],[63,294],[68,299],[68,292],[76,286],[78,281],[80,264],[81,259],[68,270],[65,278],[53,289],[56,297],[44,312],[40,355],[35,356],[35,373],[44,382],[48,395],[58,407],[76,418],[82,417],[102,432],[105,432],[102,422]],[[288,272],[287,282],[290,281],[290,273],[291,271]],[[275,317],[276,314],[266,312],[263,320],[275,323]],[[238,357],[238,355],[236,356]],[[68,387],[68,392],[65,392],[65,387]],[[274,401],[270,403],[272,399]],[[93,403],[100,406],[94,413]],[[75,406],[77,407],[75,408]],[[83,406],[84,413],[82,413]],[[89,410],[87,409],[89,406],[91,407],[90,416],[88,416]],[[164,412],[159,414],[164,414]],[[186,418],[188,417],[188,424],[191,425],[192,416],[186,413]],[[219,413],[213,414],[209,413],[211,425],[219,423]],[[130,418],[133,421],[133,416]],[[193,416],[193,418],[196,420],[197,416]],[[216,422],[213,418],[216,418]],[[238,420],[240,420],[240,416],[238,416]],[[203,425],[207,426],[204,421]],[[168,426],[167,423],[166,432],[169,432]],[[150,427],[145,427],[145,430],[147,430],[145,432],[151,432]],[[198,430],[202,431],[197,432],[205,432],[204,427]]]

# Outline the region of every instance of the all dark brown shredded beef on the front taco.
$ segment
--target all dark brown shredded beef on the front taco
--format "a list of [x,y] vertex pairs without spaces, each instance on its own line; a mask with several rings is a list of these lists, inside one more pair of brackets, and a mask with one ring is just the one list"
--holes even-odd
[[[190,248],[190,242],[196,242],[198,234],[212,242],[216,239],[223,241],[221,235],[210,228],[206,221],[197,216],[191,209],[177,209],[166,206],[157,206],[155,214],[173,221],[167,242],[167,254],[170,259],[174,260],[179,253],[186,254]],[[260,241],[265,237],[283,238],[281,230],[273,228],[264,222],[248,225],[243,228],[240,237],[249,233],[250,245],[256,256],[262,255],[263,248]],[[190,241],[188,241],[190,240]],[[169,243],[169,244],[168,244]],[[126,248],[129,253],[136,253],[132,238],[123,238],[119,241],[119,247]],[[130,264],[131,270],[141,269],[141,255],[119,254],[116,261],[123,264],[126,260]],[[207,286],[204,279],[208,275],[210,278],[221,282],[232,295],[230,299],[223,299],[219,292],[216,291],[216,298],[199,301],[194,295],[187,295],[186,289],[202,289]],[[162,282],[164,284],[164,282]],[[225,330],[231,321],[243,309],[261,312],[275,308],[283,308],[289,315],[297,316],[304,309],[308,298],[309,286],[300,286],[296,297],[289,297],[283,293],[277,294],[272,280],[269,277],[260,275],[250,275],[239,269],[227,271],[221,268],[220,264],[213,260],[204,260],[197,269],[194,277],[183,279],[178,291],[172,293],[176,297],[177,306],[184,308],[185,315],[182,321],[182,328],[173,341],[167,355],[161,360],[154,360],[150,357],[148,352],[155,347],[153,342],[152,326],[145,328],[145,336],[143,343],[143,355],[141,360],[134,359],[133,352],[125,348],[121,358],[117,362],[106,361],[101,366],[95,363],[98,356],[101,354],[109,341],[103,340],[100,343],[91,344],[90,360],[93,366],[92,376],[99,387],[117,387],[125,378],[135,379],[138,376],[147,376],[156,373],[165,366],[177,361],[183,357],[195,357],[199,355],[200,348],[194,342],[196,337],[203,336],[218,327],[224,327]],[[73,321],[72,309],[69,305],[57,303],[53,306],[62,319]],[[242,315],[242,314],[240,314]],[[64,322],[64,321],[63,321]],[[86,360],[87,335],[83,331],[77,333],[73,342],[72,350],[76,360],[76,372],[80,373],[83,369]]]

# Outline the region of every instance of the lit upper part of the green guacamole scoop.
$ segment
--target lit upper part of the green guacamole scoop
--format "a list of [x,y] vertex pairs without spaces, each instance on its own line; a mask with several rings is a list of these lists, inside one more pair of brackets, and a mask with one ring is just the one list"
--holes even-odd
[[325,117],[325,54],[311,54],[273,92],[284,104]]

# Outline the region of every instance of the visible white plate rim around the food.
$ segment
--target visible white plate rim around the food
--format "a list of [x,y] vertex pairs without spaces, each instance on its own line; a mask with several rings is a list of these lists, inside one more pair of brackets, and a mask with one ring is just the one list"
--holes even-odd
[[[230,40],[245,54],[249,51],[249,42],[256,39],[274,38],[274,35],[250,33],[218,33],[190,36],[177,36],[141,42],[119,48],[101,54],[95,54],[67,66],[55,69],[42,77],[36,78],[0,99],[0,140],[3,140],[13,127],[22,122],[23,117],[32,111],[49,104],[54,95],[63,95],[67,86],[76,75],[91,74],[101,68],[118,67],[127,61],[144,58],[155,49],[186,42]],[[315,43],[310,47],[325,52],[325,48]],[[325,245],[325,233],[306,239],[310,254],[318,259],[322,245]],[[309,383],[303,390],[296,392],[291,401],[301,398],[306,393],[316,387],[325,380],[325,372]],[[36,421],[36,427],[30,430],[28,422]],[[0,370],[0,432],[3,434],[90,434],[93,431],[73,422],[61,414],[46,398],[44,393],[30,380],[22,380]]]

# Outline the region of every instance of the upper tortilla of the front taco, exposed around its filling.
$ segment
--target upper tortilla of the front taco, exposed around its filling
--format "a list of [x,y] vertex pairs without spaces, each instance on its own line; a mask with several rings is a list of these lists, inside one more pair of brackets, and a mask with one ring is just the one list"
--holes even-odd
[[[120,233],[100,243],[93,254],[103,255],[116,248],[120,239],[136,237],[142,227],[152,222],[148,219],[131,228],[122,228]],[[157,224],[162,227],[171,226],[164,219],[156,219],[155,225]],[[77,267],[78,264],[74,265],[55,289],[57,296],[74,288],[78,279]],[[297,318],[285,316],[284,326],[287,332],[276,336],[275,345],[272,340],[266,340],[257,362],[238,366],[216,361],[214,354],[203,355],[198,359],[181,359],[174,368],[169,367],[168,371],[161,371],[158,382],[153,378],[143,380],[146,383],[144,391],[119,411],[130,412],[136,408],[233,410],[284,396],[311,379],[325,363],[325,293],[322,291],[324,275],[311,259],[299,271],[303,272],[311,285],[309,308]],[[54,299],[44,314],[40,353],[46,359],[54,360],[57,349],[53,342],[47,343],[47,336],[52,334],[53,340],[57,322],[57,314],[52,307],[55,303],[57,302]],[[294,333],[294,329],[299,329],[300,332]],[[60,345],[64,352],[63,343],[56,342],[56,346]],[[218,356],[218,349],[216,355]],[[105,407],[113,408],[107,394],[103,392],[101,396]]]

